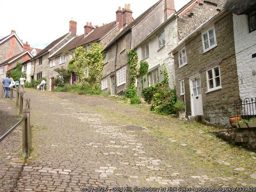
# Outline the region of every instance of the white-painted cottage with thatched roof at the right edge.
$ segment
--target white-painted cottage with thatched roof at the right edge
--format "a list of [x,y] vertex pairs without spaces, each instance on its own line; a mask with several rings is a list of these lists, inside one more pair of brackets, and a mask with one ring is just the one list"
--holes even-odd
[[256,1],[237,4],[227,0],[225,10],[233,13],[234,41],[240,98],[256,98]]

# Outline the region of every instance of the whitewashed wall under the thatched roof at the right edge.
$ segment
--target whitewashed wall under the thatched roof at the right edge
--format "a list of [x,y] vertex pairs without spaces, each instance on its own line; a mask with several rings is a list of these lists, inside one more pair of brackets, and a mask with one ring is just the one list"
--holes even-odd
[[252,70],[256,70],[256,58],[252,54],[256,53],[256,31],[249,33],[246,15],[233,14],[233,22],[240,98],[255,98],[256,75]]

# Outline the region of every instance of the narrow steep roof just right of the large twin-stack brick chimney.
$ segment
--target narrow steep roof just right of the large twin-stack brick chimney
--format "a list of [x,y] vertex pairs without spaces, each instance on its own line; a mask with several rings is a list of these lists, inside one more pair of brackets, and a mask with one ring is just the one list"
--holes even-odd
[[104,50],[105,51],[107,48],[112,46],[117,40],[122,38],[126,33],[128,33],[132,28],[138,24],[147,14],[150,12],[152,9],[154,9],[162,0],[156,2],[154,5],[152,5],[148,10],[143,12],[140,16],[138,16],[133,22],[131,22],[126,28],[124,28],[108,45],[105,46]]

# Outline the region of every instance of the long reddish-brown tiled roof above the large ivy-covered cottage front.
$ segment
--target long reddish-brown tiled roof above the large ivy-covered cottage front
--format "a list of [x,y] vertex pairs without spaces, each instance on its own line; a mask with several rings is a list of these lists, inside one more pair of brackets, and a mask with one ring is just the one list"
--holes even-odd
[[88,34],[88,36],[84,37],[84,34],[74,38],[71,40],[68,44],[66,44],[64,47],[62,47],[58,52],[56,52],[54,55],[51,56],[57,56],[59,54],[62,54],[64,51],[73,50],[76,47],[95,42],[96,40],[100,40],[104,35],[106,35],[108,32],[110,32],[113,28],[117,26],[116,21],[113,21],[109,24],[103,25],[99,28],[94,29],[93,32]]

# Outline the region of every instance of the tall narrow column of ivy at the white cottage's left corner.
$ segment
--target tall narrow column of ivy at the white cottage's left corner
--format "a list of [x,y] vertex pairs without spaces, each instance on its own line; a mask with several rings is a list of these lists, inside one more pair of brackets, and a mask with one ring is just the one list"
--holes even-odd
[[127,51],[128,54],[128,63],[130,66],[130,88],[136,90],[136,74],[137,74],[137,63],[138,63],[138,54],[136,49]]

